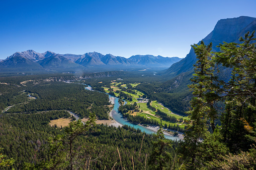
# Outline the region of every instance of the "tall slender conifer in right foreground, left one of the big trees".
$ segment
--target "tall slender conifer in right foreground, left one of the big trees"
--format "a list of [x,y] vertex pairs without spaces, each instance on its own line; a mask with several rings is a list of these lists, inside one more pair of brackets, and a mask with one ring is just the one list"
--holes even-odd
[[[212,43],[206,46],[201,41],[200,45],[194,44],[192,47],[198,59],[194,65],[194,77],[191,79],[193,84],[189,85],[194,97],[190,102],[192,109],[187,112],[191,122],[180,148],[182,157],[187,163],[187,167],[190,168],[200,166],[200,155],[202,155],[202,146],[204,145],[202,141],[212,138],[209,135],[208,126],[213,132],[216,128],[214,121],[218,118],[216,103],[219,100],[220,92],[218,77],[214,75]],[[210,122],[210,125],[207,122]],[[211,149],[214,150],[214,148]]]

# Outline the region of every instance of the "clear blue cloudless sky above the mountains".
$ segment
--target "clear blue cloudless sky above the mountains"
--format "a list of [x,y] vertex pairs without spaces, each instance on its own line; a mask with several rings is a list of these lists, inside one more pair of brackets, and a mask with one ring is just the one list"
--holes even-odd
[[256,18],[255,0],[0,0],[0,59],[15,52],[184,58],[220,19]]

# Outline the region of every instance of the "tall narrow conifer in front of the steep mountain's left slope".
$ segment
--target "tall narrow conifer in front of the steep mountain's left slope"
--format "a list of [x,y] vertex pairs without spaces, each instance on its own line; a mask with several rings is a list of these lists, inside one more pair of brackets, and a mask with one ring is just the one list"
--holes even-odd
[[[212,57],[210,53],[212,44],[206,46],[204,42],[201,41],[200,45],[195,44],[192,47],[195,50],[198,60],[194,65],[194,77],[191,79],[193,84],[189,86],[193,90],[194,95],[191,100],[192,110],[188,112],[191,117],[191,124],[187,129],[181,154],[187,162],[190,162],[190,166],[196,166],[201,140],[204,139],[207,134],[207,112],[210,112],[210,107],[206,105],[208,102],[206,96],[209,93],[207,88],[211,84],[209,81],[213,73],[211,64],[209,63]],[[214,119],[212,121],[214,121]]]

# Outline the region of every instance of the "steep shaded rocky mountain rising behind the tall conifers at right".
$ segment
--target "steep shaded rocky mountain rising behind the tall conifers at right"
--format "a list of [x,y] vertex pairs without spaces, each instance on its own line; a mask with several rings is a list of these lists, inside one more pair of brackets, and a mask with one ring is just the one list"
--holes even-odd
[[[219,20],[214,27],[213,31],[206,36],[203,41],[206,45],[210,42],[213,44],[213,51],[218,51],[217,45],[223,42],[231,43],[238,42],[241,36],[244,36],[246,32],[252,32],[256,28],[256,18],[252,17],[238,17],[232,19],[222,19]],[[200,44],[200,42],[198,43]],[[181,60],[170,66],[166,70],[166,74],[171,74],[173,76],[179,75],[193,69],[193,65],[196,63],[196,55],[194,50],[191,48],[189,54]]]

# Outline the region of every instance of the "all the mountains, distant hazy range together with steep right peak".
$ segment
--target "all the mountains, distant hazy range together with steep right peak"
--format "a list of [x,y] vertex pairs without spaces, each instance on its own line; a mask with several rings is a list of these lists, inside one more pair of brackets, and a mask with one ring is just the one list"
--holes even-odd
[[[213,31],[206,36],[204,43],[212,42],[212,51],[220,43],[239,42],[239,38],[245,33],[256,30],[256,18],[241,16],[238,18],[221,19],[215,25]],[[200,42],[198,43],[200,44]],[[193,65],[196,63],[196,55],[191,48],[189,54],[184,58],[162,57],[152,55],[135,55],[130,58],[103,55],[92,52],[83,55],[56,54],[50,51],[37,53],[33,50],[16,52],[5,60],[0,60],[0,72],[5,71],[74,71],[74,70],[123,70],[131,68],[168,68],[164,74],[175,77],[181,73],[193,72]],[[228,72],[223,69],[223,72]],[[186,74],[187,75],[187,74]]]

